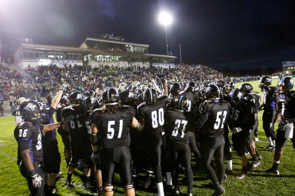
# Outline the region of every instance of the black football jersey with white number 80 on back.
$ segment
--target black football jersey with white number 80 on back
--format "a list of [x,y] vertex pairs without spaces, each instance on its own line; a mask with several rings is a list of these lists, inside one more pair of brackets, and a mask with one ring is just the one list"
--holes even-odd
[[138,115],[140,118],[145,118],[145,130],[147,133],[164,132],[164,114],[168,103],[168,96],[160,95],[156,103],[147,105],[144,102],[138,106]]

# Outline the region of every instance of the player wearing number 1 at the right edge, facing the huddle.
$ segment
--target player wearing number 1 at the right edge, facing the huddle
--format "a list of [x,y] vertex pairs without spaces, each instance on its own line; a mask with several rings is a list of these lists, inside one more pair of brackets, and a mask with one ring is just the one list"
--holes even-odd
[[[274,124],[279,118],[281,118],[281,121],[276,131],[276,147],[273,156],[273,166],[268,170],[264,170],[264,172],[267,173],[280,174],[278,166],[283,155],[283,146],[287,139],[292,137],[288,134],[290,132],[292,133],[293,124],[295,123],[295,92],[292,91],[293,86],[294,82],[292,78],[285,76],[278,81],[278,93],[273,96],[273,101],[277,104],[277,113],[270,125],[271,131],[273,131]],[[294,136],[295,134],[293,132],[293,147],[295,147]]]

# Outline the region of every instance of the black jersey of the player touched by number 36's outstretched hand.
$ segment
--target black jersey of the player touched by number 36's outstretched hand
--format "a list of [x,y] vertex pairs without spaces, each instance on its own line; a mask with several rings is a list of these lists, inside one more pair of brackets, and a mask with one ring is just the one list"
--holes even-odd
[[68,122],[70,134],[91,134],[91,123],[88,121],[82,106],[67,106],[62,109],[61,116],[75,118]]

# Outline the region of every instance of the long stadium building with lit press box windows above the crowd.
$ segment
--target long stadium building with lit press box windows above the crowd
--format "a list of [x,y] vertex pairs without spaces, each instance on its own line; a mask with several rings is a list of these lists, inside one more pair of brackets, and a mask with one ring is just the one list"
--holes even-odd
[[87,37],[79,47],[33,44],[31,38],[18,40],[14,63],[22,69],[28,65],[77,64],[97,66],[174,67],[175,56],[149,54],[149,45],[126,42],[123,39]]

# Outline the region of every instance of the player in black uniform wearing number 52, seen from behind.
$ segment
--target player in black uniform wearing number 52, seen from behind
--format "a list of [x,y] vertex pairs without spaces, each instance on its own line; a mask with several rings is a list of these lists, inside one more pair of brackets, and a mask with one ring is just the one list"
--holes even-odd
[[[230,103],[220,101],[221,91],[215,84],[209,85],[206,89],[206,96],[209,99],[204,105],[204,110],[201,113],[196,128],[199,129],[201,135],[201,160],[205,166],[207,176],[212,181],[214,186],[213,195],[222,195],[224,188],[222,187],[225,168],[223,165],[224,153],[224,122],[228,118],[230,111]],[[217,174],[210,165],[212,157],[216,163]]]

